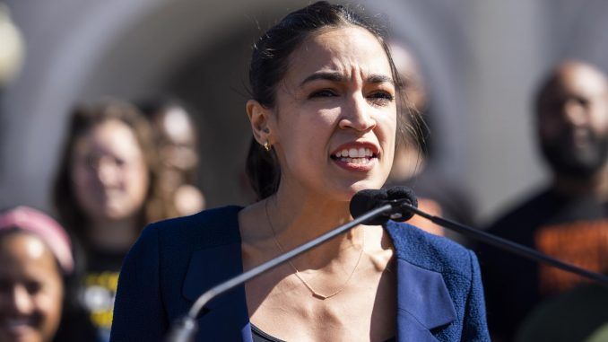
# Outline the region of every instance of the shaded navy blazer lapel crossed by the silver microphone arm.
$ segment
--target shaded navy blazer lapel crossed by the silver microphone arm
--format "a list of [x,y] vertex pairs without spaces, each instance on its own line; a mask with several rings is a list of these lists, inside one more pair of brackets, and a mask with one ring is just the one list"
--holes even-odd
[[[215,285],[243,271],[240,243],[192,253],[182,294],[195,302]],[[239,286],[205,305],[198,318],[197,341],[252,341],[245,289]]]

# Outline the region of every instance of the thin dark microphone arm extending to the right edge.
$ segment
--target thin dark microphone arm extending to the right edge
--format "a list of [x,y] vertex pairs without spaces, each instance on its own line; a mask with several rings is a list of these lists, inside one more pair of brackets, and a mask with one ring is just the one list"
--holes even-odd
[[[401,200],[398,200],[401,202]],[[563,270],[566,270],[571,273],[576,273],[579,276],[585,276],[586,278],[593,279],[602,285],[608,285],[608,276],[604,276],[599,273],[591,272],[586,269],[576,267],[570,265],[569,263],[560,261],[559,259],[554,259],[546,254],[539,252],[538,250],[531,249],[529,247],[525,247],[513,241],[508,241],[506,239],[500,238],[496,235],[492,235],[487,232],[482,232],[477,229],[473,229],[464,224],[458,224],[454,221],[447,220],[445,218],[441,218],[439,216],[434,216],[427,214],[415,206],[410,205],[406,200],[401,202],[401,207],[404,210],[410,211],[416,215],[420,215],[427,220],[430,220],[433,224],[439,224],[447,229],[450,229],[455,232],[459,232],[463,235],[472,237],[475,240],[482,241],[484,243],[491,244],[494,247],[498,247],[502,250],[510,251],[511,253],[517,254],[519,256],[525,257],[527,259],[533,259],[537,262],[543,262],[545,264],[549,264],[553,267],[558,267]]]

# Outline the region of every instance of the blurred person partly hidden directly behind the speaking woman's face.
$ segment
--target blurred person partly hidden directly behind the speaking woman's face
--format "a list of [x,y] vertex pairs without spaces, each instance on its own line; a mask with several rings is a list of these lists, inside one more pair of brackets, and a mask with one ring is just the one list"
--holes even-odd
[[[393,53],[395,67],[403,84],[404,108],[415,110],[421,115],[420,122],[413,123],[420,132],[402,136],[415,136],[416,141],[399,141],[395,150],[395,161],[387,180],[387,187],[395,185],[408,185],[414,189],[418,196],[418,206],[422,211],[431,215],[439,215],[456,220],[463,224],[473,223],[473,209],[469,197],[462,189],[458,189],[452,182],[435,172],[432,161],[432,134],[427,123],[430,120],[430,101],[427,85],[424,81],[421,66],[414,57],[412,48],[404,43],[391,40],[389,48]],[[411,116],[403,116],[410,118]],[[425,122],[426,121],[426,122]],[[432,122],[430,122],[432,124]],[[421,216],[414,215],[409,223],[414,224],[427,232],[437,235],[447,235],[455,240],[464,241],[455,233],[447,232],[438,224],[433,224]]]

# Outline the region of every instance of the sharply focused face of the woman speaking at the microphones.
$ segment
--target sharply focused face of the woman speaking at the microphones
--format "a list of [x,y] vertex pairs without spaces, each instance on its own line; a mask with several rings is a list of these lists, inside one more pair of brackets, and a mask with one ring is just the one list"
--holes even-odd
[[291,55],[270,116],[282,185],[349,201],[387,180],[395,152],[395,84],[369,31],[309,37]]

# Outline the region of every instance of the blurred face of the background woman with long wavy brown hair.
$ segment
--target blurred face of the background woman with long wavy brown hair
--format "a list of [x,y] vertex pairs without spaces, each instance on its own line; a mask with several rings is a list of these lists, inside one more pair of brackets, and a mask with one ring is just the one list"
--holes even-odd
[[110,119],[76,139],[74,196],[93,221],[130,218],[143,206],[149,175],[133,130]]

